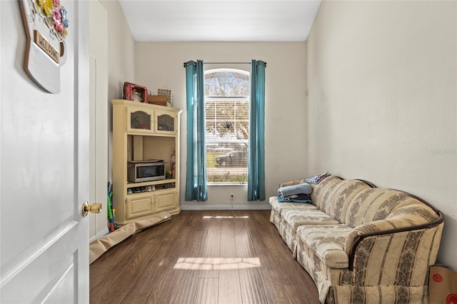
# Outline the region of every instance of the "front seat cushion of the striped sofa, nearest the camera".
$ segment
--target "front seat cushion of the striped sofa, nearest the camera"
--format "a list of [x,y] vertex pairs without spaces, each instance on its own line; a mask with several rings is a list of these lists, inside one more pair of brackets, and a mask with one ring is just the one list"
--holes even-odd
[[348,268],[349,258],[344,242],[353,228],[339,225],[303,225],[297,228],[297,238],[330,268]]

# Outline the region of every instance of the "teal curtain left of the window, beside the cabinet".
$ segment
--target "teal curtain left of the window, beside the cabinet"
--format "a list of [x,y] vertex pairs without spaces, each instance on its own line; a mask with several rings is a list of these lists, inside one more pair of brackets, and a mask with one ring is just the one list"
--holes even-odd
[[203,61],[188,61],[186,201],[206,201],[205,91]]

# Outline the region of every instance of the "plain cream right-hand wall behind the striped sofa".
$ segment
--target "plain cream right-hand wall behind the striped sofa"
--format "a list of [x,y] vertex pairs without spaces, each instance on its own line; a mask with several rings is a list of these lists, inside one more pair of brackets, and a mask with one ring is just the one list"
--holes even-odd
[[308,36],[311,171],[416,194],[457,270],[457,2],[323,1]]

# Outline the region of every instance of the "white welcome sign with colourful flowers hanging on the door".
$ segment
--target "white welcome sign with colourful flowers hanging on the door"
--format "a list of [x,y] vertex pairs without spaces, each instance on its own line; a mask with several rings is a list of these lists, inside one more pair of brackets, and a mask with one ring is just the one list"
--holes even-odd
[[60,92],[60,67],[66,61],[69,19],[60,0],[19,0],[26,29],[24,69],[49,93]]

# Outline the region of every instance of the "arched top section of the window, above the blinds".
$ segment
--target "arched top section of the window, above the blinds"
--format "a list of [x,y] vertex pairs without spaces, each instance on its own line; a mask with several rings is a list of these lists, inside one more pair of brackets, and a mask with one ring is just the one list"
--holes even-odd
[[238,69],[205,71],[205,96],[249,96],[250,73]]

